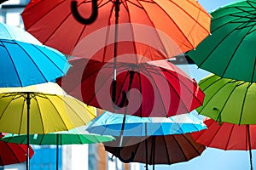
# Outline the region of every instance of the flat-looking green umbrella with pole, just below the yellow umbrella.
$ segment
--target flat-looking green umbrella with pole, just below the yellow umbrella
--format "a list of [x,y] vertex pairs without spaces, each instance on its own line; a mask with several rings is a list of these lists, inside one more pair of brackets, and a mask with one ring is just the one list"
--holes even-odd
[[[73,128],[70,131],[57,133],[31,134],[29,135],[30,144],[56,144],[56,169],[58,169],[59,145],[61,144],[96,144],[112,141],[114,138],[108,135],[88,133],[85,127]],[[26,134],[8,133],[1,140],[9,143],[26,144]]]

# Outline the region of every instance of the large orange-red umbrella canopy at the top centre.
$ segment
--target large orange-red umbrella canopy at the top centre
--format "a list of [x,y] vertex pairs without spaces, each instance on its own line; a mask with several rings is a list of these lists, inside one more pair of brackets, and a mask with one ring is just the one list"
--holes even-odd
[[[210,15],[195,0],[97,1],[98,17],[90,25],[81,24],[73,17],[71,2],[72,0],[30,1],[21,14],[26,30],[40,42],[65,54],[79,55],[79,57],[81,51],[73,53],[73,49],[84,40],[84,37],[86,39],[95,31],[100,32],[100,36],[94,34],[96,37],[90,37],[89,43],[84,42],[85,53],[90,53],[88,50],[99,47],[98,44],[101,44],[99,51],[114,42],[118,42],[116,44],[118,46],[125,45],[125,48],[118,48],[117,55],[114,54],[113,44],[101,50],[96,56],[83,54],[83,57],[93,57],[103,62],[112,59],[114,55],[144,56],[148,51],[152,53],[147,56],[148,59],[166,59],[195,48],[209,34]],[[88,16],[90,13],[90,3],[91,1],[87,0],[77,1],[78,11],[82,16]],[[61,14],[59,11],[62,11]],[[52,20],[53,17],[55,21]],[[116,28],[114,26],[116,24],[129,24],[129,26]],[[133,24],[140,26],[135,28]],[[153,28],[154,31],[145,31],[148,27]],[[170,44],[166,44],[166,37],[163,37],[163,34],[175,44],[175,49],[168,47]],[[60,40],[64,40],[65,43]],[[156,46],[147,47],[145,45],[147,42],[154,42]],[[157,50],[154,47],[157,47]],[[164,54],[159,54],[158,50]]]

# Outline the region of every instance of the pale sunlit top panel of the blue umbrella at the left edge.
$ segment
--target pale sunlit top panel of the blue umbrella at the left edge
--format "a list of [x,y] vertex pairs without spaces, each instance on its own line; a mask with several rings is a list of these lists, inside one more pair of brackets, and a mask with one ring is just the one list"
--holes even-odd
[[9,26],[0,22],[0,37],[33,44],[42,44],[37,38],[18,26]]

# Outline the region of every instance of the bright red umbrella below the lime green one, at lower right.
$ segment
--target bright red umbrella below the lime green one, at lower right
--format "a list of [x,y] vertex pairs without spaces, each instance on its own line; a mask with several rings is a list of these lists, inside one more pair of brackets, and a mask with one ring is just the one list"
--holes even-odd
[[256,149],[256,125],[236,125],[228,122],[204,121],[208,129],[191,133],[195,142],[222,150],[249,150],[253,169],[252,150]]

